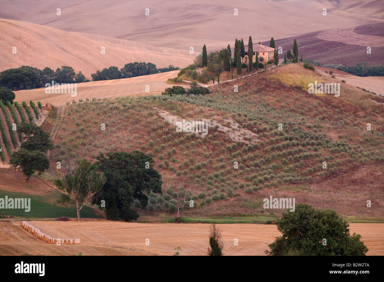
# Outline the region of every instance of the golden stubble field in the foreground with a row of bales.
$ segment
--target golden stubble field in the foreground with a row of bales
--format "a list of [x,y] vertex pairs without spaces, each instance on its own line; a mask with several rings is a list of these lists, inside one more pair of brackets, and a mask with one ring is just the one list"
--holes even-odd
[[[0,254],[5,255],[205,255],[209,224],[152,224],[111,221],[29,221],[42,232],[58,238],[76,237],[80,245],[45,244],[20,228],[20,222],[0,223],[3,239]],[[265,255],[267,244],[280,236],[276,225],[219,224],[225,255]],[[368,255],[384,254],[384,224],[352,223],[351,233],[361,234]],[[233,240],[238,239],[238,246]],[[149,246],[146,246],[149,239]]]

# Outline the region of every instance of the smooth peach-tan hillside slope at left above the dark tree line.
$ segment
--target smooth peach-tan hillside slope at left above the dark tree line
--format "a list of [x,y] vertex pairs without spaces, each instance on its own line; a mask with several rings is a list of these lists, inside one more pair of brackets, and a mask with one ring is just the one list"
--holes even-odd
[[[119,69],[130,62],[150,62],[157,68],[170,64],[183,68],[193,62],[195,54],[170,48],[157,48],[144,43],[115,40],[103,36],[92,39],[49,26],[24,21],[0,19],[2,40],[0,71],[23,65],[54,71],[61,66],[71,66],[82,71],[86,78],[96,70],[117,66]],[[12,53],[12,47],[17,53]],[[105,54],[101,54],[105,47]],[[6,50],[6,51],[5,51]]]

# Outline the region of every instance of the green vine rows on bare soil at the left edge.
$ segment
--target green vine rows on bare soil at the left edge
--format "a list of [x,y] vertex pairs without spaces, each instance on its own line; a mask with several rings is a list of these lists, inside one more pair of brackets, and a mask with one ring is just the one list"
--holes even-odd
[[18,135],[13,130],[14,124],[16,124],[17,128],[22,122],[31,121],[37,123],[38,121],[41,109],[39,112],[39,108],[34,107],[33,102],[30,104],[31,107],[28,107],[23,102],[23,107],[20,107],[17,102],[15,102],[15,105],[11,105],[9,102],[3,104],[0,101],[0,147],[2,148],[0,158],[5,163],[9,162],[10,155],[20,147],[22,142],[22,135]]

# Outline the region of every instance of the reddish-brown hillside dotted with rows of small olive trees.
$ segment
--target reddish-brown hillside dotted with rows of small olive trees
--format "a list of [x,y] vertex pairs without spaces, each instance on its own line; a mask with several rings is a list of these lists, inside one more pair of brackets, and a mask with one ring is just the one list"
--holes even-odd
[[[384,98],[348,84],[339,97],[310,95],[308,83],[315,80],[333,82],[291,64],[215,84],[204,96],[118,97],[65,106],[51,163],[142,150],[154,157],[164,192],[190,190],[187,198],[196,204],[182,211],[185,216],[261,216],[263,198],[273,195],[380,219]],[[177,132],[175,121],[182,119],[207,121],[208,134]],[[172,213],[172,200],[151,197],[149,211]]]

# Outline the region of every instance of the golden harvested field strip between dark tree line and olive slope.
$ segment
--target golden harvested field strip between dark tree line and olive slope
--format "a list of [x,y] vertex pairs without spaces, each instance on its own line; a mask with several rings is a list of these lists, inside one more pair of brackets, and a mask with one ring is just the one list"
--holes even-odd
[[[177,76],[179,71],[168,71],[166,73],[157,73],[147,76],[136,76],[134,78],[111,79],[102,81],[90,81],[77,84],[77,95],[71,97],[69,93],[63,94],[46,94],[45,87],[21,90],[15,92],[15,101],[22,103],[23,101],[40,101],[45,105],[50,102],[53,106],[63,106],[66,102],[79,99],[85,101],[86,98],[114,98],[120,96],[137,97],[139,95],[159,95],[167,87],[172,87],[166,81],[169,78]],[[146,92],[146,86],[149,86],[149,92]]]

